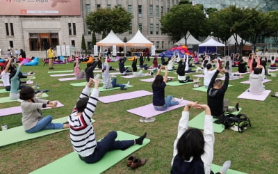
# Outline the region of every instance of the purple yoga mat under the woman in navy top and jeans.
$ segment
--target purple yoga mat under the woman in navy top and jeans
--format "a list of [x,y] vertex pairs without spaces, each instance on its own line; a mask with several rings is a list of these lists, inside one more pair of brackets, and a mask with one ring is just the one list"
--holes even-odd
[[[177,99],[177,98],[176,98],[176,100],[179,101],[179,99]],[[190,101],[182,100],[178,105],[170,106],[165,111],[156,111],[154,109],[154,105],[153,104],[147,104],[145,106],[140,106],[138,108],[129,109],[129,110],[127,110],[127,112],[133,113],[133,114],[135,114],[137,116],[141,116],[141,117],[145,117],[145,118],[151,118],[153,116],[158,116],[161,113],[165,113],[167,111],[172,111],[174,109],[178,109],[180,107],[183,107],[188,102],[190,102]]]

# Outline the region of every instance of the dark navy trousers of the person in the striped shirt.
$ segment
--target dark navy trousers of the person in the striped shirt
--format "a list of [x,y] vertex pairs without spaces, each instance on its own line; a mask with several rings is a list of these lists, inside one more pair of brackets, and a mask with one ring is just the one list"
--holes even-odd
[[109,132],[104,137],[104,139],[101,139],[101,141],[97,141],[97,147],[95,148],[95,151],[92,153],[92,155],[88,157],[79,156],[79,158],[85,161],[86,163],[92,164],[104,157],[104,155],[106,155],[106,152],[108,151],[125,150],[129,148],[131,145],[134,145],[134,140],[115,141],[116,138],[117,132]]

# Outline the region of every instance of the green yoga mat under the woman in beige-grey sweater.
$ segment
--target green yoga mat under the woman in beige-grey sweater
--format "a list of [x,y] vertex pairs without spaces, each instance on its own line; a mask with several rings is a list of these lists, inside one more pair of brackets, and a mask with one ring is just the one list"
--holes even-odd
[[[67,121],[68,116],[63,117],[63,118],[57,118],[52,120],[54,123],[62,123]],[[95,120],[92,119],[92,122],[95,122]],[[0,147],[3,145],[9,145],[12,143],[17,143],[20,141],[25,141],[29,139],[35,139],[40,136],[45,136],[49,134],[54,134],[56,132],[61,132],[65,131],[67,129],[46,129],[42,130],[40,132],[35,132],[33,134],[28,134],[24,131],[23,126],[19,127],[13,127],[13,128],[8,128],[4,131],[0,132]]]

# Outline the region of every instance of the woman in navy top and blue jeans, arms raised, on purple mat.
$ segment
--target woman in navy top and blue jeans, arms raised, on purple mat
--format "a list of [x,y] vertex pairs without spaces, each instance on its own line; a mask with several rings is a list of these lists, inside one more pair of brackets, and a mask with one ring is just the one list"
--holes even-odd
[[[165,68],[164,77],[161,75],[162,68]],[[167,77],[168,77],[167,67],[161,65],[161,67],[158,69],[158,72],[156,74],[156,78],[152,83],[152,91],[153,91],[152,104],[154,105],[154,109],[156,111],[165,111],[167,107],[179,104],[179,101],[175,100],[172,95],[167,95],[167,97],[165,98],[165,87],[166,87]],[[181,98],[181,100],[182,99],[183,98]],[[149,122],[151,122],[151,121],[155,121],[156,118],[149,118],[149,119],[150,119]]]

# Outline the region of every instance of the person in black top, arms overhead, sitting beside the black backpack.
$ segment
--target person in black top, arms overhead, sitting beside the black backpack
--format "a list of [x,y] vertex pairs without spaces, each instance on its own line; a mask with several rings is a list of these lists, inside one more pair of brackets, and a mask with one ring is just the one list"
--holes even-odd
[[[219,72],[223,72],[225,74],[224,84],[222,83],[221,79],[216,79]],[[236,104],[235,107],[227,109],[227,106],[229,106],[229,104],[227,104],[227,100],[224,101],[224,95],[226,93],[228,86],[229,86],[229,72],[227,72],[227,70],[225,69],[217,68],[216,72],[213,74],[213,77],[211,78],[211,82],[209,83],[208,90],[207,90],[208,106],[211,109],[211,114],[214,118],[220,118],[224,113],[224,111],[227,112],[239,111],[238,103]]]

